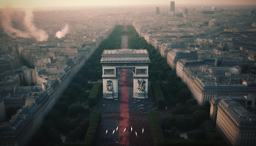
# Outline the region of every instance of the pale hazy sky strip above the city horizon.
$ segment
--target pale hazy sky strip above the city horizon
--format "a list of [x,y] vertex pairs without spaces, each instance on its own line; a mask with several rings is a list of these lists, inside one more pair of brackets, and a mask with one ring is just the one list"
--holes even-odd
[[[0,7],[77,7],[77,6],[130,6],[130,5],[163,5],[171,0],[0,0]],[[174,0],[179,4],[243,4],[256,5],[256,0]]]

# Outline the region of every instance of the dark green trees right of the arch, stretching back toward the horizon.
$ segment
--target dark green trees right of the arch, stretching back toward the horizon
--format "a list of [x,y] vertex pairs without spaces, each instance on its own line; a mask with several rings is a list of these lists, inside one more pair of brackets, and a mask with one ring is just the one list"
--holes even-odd
[[148,44],[144,38],[139,37],[133,26],[128,25],[127,30],[130,29],[132,30],[130,32],[134,34],[128,38],[128,46],[132,49],[147,49],[150,58],[148,66],[149,80],[150,82],[162,81],[159,82],[159,86],[166,99],[166,104],[185,103],[186,100],[191,98],[189,88],[180,77],[177,77],[175,71],[172,71],[172,68],[160,53],[151,44]]

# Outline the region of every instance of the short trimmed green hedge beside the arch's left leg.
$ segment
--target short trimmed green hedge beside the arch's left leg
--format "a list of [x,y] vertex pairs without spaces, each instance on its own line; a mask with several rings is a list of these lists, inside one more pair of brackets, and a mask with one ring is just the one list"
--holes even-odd
[[91,93],[88,98],[89,107],[96,106],[99,100],[99,95],[102,91],[102,83],[96,82],[92,87]]

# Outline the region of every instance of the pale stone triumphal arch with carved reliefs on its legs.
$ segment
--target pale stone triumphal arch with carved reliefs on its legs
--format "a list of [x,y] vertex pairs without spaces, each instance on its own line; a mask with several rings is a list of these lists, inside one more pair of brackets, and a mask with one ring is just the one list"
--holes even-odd
[[133,73],[133,97],[148,98],[149,54],[146,49],[104,50],[101,55],[103,98],[118,97],[117,73],[130,69]]

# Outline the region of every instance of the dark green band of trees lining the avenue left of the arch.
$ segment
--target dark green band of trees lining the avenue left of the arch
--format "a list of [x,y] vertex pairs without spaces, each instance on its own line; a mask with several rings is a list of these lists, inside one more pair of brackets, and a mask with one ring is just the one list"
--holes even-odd
[[[63,92],[54,108],[47,114],[42,126],[33,137],[31,146],[61,144],[60,133],[67,135],[66,142],[61,145],[74,145],[76,140],[85,140],[89,120],[84,120],[83,114],[89,114],[90,110],[84,107],[86,103],[83,104],[83,102],[88,100],[90,95],[88,91],[92,90],[94,86],[93,83],[88,83],[88,80],[101,79],[102,66],[100,60],[102,51],[103,49],[119,49],[122,33],[124,33],[123,26],[116,26],[109,38],[99,45],[98,49],[73,78],[73,82]],[[77,104],[78,102],[82,103]],[[95,105],[97,101],[93,103]]]

